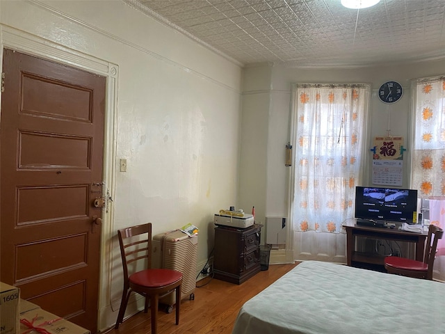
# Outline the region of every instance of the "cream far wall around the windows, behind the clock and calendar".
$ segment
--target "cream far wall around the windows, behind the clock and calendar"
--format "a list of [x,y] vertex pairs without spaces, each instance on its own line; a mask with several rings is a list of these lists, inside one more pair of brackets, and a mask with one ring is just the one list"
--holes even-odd
[[[387,134],[388,124],[391,135],[403,136],[404,146],[407,148],[403,160],[403,186],[410,186],[410,141],[412,139],[410,138],[410,113],[412,112],[410,80],[444,74],[444,69],[445,60],[358,68],[289,68],[270,64],[245,68],[243,71],[243,120],[246,115],[258,113],[261,136],[264,138],[258,138],[254,143],[242,141],[243,152],[259,150],[259,145],[262,150],[261,157],[252,158],[241,155],[240,184],[248,190],[241,192],[240,202],[248,202],[248,199],[255,198],[256,202],[264,205],[264,207],[255,207],[257,221],[264,222],[266,216],[288,216],[289,170],[284,166],[284,147],[289,141],[291,85],[293,83],[371,83],[373,86],[371,124],[367,146],[371,149],[373,137]],[[378,88],[385,81],[398,81],[403,86],[404,94],[401,100],[391,105],[380,102],[377,95]],[[259,106],[268,110],[262,110]],[[243,123],[242,138],[255,136],[259,136],[257,129],[252,126],[245,127]],[[253,159],[261,166],[261,160],[264,157],[267,160],[266,170],[245,168],[254,163],[247,164],[243,159]],[[370,164],[371,156],[364,176],[367,184],[372,182]],[[244,182],[243,175],[246,179]],[[248,182],[248,180],[261,180],[261,182]],[[291,234],[288,235],[291,237]],[[275,257],[276,262],[293,260],[291,249],[289,249],[292,245],[289,241],[287,248],[286,253]],[[273,254],[270,261],[274,261]]]

